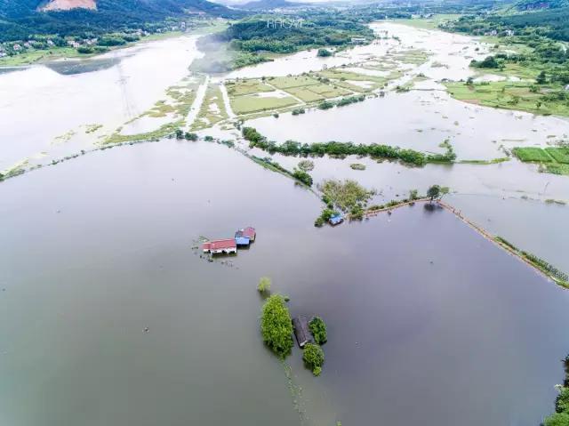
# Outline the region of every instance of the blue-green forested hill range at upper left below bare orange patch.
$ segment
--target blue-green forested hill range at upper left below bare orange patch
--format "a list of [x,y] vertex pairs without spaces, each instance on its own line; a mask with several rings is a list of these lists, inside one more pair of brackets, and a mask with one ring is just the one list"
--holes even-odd
[[239,17],[233,11],[207,0],[97,0],[97,10],[38,12],[44,0],[0,0],[0,42],[23,40],[32,34],[76,35],[90,32],[143,27],[145,24],[204,12],[213,16]]

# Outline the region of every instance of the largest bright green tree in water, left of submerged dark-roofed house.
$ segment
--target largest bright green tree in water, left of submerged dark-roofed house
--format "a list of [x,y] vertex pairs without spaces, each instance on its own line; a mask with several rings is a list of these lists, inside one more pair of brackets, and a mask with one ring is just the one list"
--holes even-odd
[[260,332],[263,342],[279,357],[284,358],[293,349],[293,322],[280,294],[268,297],[263,305]]

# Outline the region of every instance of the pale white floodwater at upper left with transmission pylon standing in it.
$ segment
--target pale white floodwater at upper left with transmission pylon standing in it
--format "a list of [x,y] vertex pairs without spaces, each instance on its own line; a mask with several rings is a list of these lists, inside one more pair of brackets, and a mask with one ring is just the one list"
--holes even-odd
[[[90,149],[188,76],[197,36],[180,36],[0,74],[0,170]],[[102,125],[87,133],[89,125]]]

